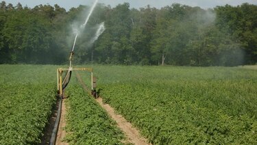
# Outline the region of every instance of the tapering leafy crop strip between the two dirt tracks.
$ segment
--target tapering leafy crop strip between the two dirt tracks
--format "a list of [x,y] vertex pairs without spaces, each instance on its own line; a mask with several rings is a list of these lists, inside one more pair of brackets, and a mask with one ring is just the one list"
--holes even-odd
[[[73,78],[74,79],[74,78]],[[78,83],[78,82],[77,82]],[[122,144],[123,133],[106,111],[81,86],[70,85],[66,142],[70,144]]]

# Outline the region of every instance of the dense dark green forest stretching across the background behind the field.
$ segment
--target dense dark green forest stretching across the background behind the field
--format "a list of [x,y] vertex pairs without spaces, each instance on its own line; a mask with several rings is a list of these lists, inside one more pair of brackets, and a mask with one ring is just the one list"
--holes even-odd
[[[73,27],[90,6],[0,3],[0,64],[65,64]],[[106,30],[92,43],[99,23]],[[97,4],[75,45],[76,63],[235,66],[257,63],[257,5],[204,10],[173,3],[164,8]]]

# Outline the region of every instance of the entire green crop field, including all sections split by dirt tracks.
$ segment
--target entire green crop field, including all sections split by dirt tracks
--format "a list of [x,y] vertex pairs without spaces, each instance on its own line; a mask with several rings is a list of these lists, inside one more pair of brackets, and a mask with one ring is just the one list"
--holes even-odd
[[[0,144],[38,144],[56,102],[56,65],[0,65]],[[84,67],[84,66],[83,66]],[[257,144],[254,67],[95,65],[103,100],[152,144]],[[90,75],[79,71],[86,84]],[[122,144],[123,134],[75,74],[66,141]]]

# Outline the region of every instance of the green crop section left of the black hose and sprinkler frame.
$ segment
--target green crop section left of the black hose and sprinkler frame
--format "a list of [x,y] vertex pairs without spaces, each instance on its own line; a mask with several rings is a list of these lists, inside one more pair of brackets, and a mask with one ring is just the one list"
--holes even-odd
[[0,65],[0,144],[38,144],[56,100],[54,66]]

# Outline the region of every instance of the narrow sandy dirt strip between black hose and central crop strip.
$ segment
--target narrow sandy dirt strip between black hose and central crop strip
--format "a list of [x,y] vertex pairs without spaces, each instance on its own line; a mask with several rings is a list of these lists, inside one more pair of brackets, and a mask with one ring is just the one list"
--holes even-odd
[[66,135],[66,131],[64,130],[64,127],[66,126],[65,117],[66,117],[66,102],[62,100],[62,113],[61,113],[58,133],[56,137],[56,145],[68,145],[68,143],[62,142],[62,140]]

